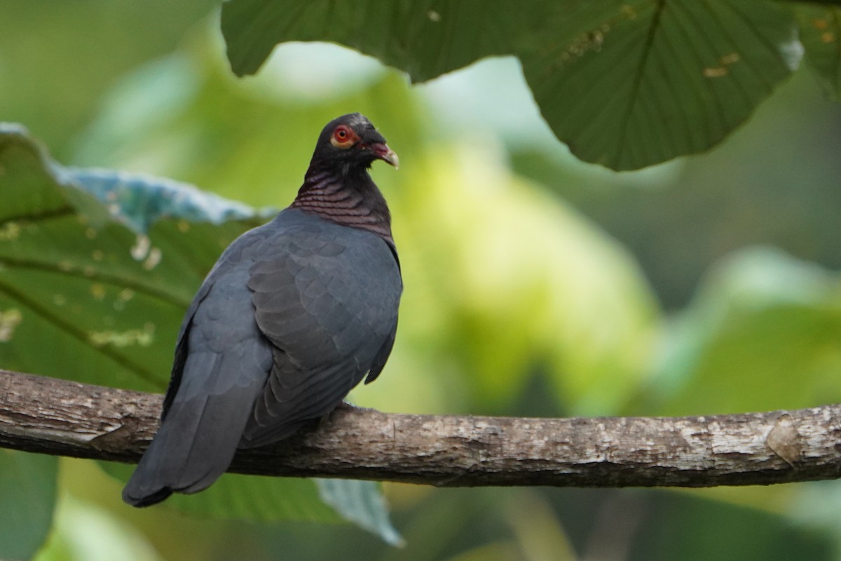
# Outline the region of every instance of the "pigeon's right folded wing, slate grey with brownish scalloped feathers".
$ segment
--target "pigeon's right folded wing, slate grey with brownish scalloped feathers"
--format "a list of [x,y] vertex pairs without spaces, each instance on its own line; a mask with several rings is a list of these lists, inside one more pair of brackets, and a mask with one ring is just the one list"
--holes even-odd
[[274,363],[241,443],[249,447],[326,415],[383,368],[402,290],[389,246],[369,232],[313,217],[263,246],[248,287]]

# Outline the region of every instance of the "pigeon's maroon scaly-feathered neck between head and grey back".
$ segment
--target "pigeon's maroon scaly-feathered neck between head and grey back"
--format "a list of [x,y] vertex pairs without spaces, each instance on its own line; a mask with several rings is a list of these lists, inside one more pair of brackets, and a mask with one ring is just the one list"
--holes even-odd
[[368,170],[320,170],[309,167],[291,204],[336,224],[368,230],[394,247],[391,214]]

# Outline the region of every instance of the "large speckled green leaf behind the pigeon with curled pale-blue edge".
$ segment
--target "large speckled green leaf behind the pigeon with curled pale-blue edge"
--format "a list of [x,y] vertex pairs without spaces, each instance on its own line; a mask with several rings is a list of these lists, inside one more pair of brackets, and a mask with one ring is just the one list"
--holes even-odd
[[[0,169],[0,364],[165,389],[193,293],[262,215],[167,179],[62,167],[17,125],[0,125]],[[128,479],[129,466],[105,465]],[[306,479],[225,474],[167,504],[201,516],[338,520]]]

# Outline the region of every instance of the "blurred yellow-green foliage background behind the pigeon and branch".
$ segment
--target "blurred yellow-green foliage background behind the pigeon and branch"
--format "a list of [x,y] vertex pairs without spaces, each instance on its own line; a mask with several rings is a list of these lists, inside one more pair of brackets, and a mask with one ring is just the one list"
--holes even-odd
[[[0,7],[0,120],[64,164],[294,198],[320,128],[360,111],[405,278],[394,354],[359,405],[475,415],[694,415],[841,400],[841,108],[798,71],[708,154],[576,161],[517,61],[410,86],[336,45],[225,61],[215,2]],[[3,365],[0,365],[3,366]],[[81,366],[81,365],[80,365]],[[0,478],[3,474],[0,474]],[[61,462],[47,559],[836,559],[841,484],[436,490],[385,484],[405,548],[349,525],[135,511]]]

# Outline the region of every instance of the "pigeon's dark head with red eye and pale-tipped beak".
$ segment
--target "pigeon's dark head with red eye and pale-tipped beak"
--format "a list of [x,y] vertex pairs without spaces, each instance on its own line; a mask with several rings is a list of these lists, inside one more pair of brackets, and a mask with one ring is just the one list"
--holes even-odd
[[355,168],[368,169],[374,160],[399,166],[397,154],[371,121],[362,114],[352,113],[331,120],[321,131],[309,167],[339,167],[346,174]]

